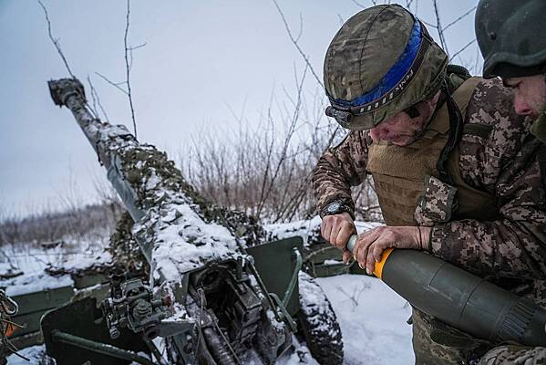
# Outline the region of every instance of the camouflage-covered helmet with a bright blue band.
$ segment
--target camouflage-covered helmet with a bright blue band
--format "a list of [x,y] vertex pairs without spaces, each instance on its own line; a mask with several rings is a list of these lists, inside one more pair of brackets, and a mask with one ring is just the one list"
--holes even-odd
[[350,130],[367,130],[432,98],[448,56],[423,24],[399,5],[352,16],[325,56],[326,115]]

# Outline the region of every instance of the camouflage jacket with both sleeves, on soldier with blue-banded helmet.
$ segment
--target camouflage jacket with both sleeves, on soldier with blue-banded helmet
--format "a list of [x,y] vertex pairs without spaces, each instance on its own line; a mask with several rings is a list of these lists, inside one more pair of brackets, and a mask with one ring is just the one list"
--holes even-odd
[[[489,126],[490,131],[463,133],[459,141],[462,178],[496,197],[500,219],[435,224],[430,249],[433,255],[546,307],[546,172],[541,172],[538,158],[541,142],[530,134],[530,120],[515,114],[511,98],[500,80],[480,81],[464,123],[476,124],[478,130]],[[366,177],[370,143],[365,130],[354,130],[325,151],[313,176],[319,209],[335,200],[354,209],[351,186]]]

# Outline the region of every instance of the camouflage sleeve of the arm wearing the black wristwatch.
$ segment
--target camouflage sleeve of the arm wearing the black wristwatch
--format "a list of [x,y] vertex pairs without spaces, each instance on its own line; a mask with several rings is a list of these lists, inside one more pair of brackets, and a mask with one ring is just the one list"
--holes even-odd
[[355,213],[351,186],[366,177],[367,141],[364,131],[353,130],[345,140],[327,149],[318,160],[313,172],[314,196],[320,212],[328,203],[341,201]]

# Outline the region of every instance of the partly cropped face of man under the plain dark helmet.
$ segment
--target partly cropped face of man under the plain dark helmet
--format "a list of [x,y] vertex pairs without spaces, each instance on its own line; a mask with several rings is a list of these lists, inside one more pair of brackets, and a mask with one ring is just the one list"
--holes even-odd
[[504,86],[514,91],[514,109],[520,115],[537,118],[546,106],[544,75],[504,78]]

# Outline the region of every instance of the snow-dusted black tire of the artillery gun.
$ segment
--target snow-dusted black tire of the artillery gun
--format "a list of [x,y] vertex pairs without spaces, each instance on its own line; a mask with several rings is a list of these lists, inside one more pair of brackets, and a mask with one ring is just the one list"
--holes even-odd
[[342,364],[341,328],[325,292],[312,276],[302,271],[299,274],[299,291],[298,333],[303,335],[314,360],[319,364]]

